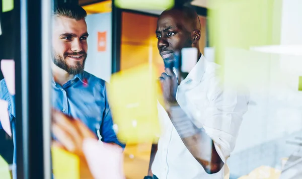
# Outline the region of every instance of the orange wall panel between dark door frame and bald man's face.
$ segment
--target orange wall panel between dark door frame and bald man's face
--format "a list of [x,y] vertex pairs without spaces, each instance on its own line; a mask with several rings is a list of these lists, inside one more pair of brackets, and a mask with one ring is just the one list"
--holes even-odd
[[155,35],[157,17],[122,13],[121,70],[143,63],[163,68]]

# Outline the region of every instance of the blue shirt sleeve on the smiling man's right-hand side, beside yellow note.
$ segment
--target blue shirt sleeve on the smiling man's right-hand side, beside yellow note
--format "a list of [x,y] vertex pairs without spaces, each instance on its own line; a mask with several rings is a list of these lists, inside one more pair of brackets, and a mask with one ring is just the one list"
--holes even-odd
[[103,114],[103,120],[101,124],[100,134],[102,136],[102,141],[107,143],[116,143],[121,147],[125,148],[125,144],[121,143],[116,136],[116,133],[113,129],[113,121],[110,106],[107,100],[107,94],[105,90],[105,110]]

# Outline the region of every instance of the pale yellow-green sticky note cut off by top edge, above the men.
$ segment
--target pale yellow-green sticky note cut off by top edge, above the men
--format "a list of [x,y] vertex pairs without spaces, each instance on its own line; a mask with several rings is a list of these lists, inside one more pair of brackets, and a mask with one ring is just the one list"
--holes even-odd
[[174,0],[116,0],[114,5],[122,9],[166,10],[174,6]]

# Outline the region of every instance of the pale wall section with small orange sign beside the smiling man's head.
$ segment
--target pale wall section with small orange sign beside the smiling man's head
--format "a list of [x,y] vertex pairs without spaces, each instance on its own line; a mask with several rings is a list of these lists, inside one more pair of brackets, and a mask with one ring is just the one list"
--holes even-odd
[[106,81],[111,76],[111,13],[92,14],[86,18],[88,56],[85,70]]

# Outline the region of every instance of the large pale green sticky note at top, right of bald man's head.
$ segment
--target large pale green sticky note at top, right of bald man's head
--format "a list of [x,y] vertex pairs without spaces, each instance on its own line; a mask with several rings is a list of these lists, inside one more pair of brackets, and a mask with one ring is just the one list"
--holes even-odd
[[[208,1],[209,42],[215,62],[224,66],[230,48],[279,45],[282,0]],[[220,70],[224,74],[223,68]]]

